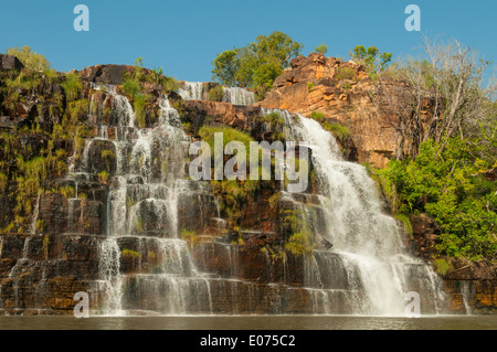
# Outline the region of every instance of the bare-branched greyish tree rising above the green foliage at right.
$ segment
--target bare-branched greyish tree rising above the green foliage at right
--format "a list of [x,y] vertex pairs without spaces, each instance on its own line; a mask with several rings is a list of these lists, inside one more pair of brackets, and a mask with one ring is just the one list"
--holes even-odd
[[425,52],[427,58],[408,57],[390,70],[390,76],[406,83],[403,88],[381,77],[376,83],[378,106],[400,138],[398,159],[414,158],[421,143],[430,139],[443,149],[453,136],[479,134],[480,124],[488,130],[486,121],[495,116],[496,85],[484,82],[489,62],[457,41],[438,44],[425,39]]

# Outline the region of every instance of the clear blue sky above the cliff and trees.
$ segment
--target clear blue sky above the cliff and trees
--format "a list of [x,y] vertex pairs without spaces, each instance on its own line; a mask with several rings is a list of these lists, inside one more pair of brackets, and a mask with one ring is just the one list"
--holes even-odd
[[[89,32],[73,29],[80,3],[89,8]],[[410,3],[421,8],[421,32],[404,29]],[[218,53],[278,30],[303,43],[305,55],[322,42],[327,55],[345,58],[359,44],[417,55],[427,35],[457,39],[497,62],[496,17],[495,0],[3,1],[0,52],[30,45],[61,72],[141,56],[178,79],[210,81]]]

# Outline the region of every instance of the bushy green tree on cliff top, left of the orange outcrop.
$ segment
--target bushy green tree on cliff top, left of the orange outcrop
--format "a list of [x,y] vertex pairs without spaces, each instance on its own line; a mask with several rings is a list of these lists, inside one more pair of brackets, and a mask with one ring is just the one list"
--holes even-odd
[[246,46],[226,50],[214,61],[212,79],[228,86],[269,90],[274,79],[288,67],[289,61],[300,54],[303,44],[282,32],[260,35]]

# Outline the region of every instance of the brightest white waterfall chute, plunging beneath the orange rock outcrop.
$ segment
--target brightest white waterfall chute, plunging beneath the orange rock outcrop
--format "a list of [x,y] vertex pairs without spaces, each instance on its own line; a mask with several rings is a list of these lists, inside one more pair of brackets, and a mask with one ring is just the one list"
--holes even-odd
[[[404,313],[404,295],[410,290],[413,269],[431,268],[404,250],[396,222],[382,211],[373,181],[362,166],[342,159],[336,140],[314,119],[298,116],[297,134],[309,143],[316,177],[325,198],[326,232],[320,235],[334,244],[334,252],[359,273],[367,294],[362,312],[398,316]],[[411,277],[410,277],[411,276]],[[434,276],[417,280],[440,291]],[[436,296],[435,296],[436,298]],[[422,302],[423,303],[423,302]]]

